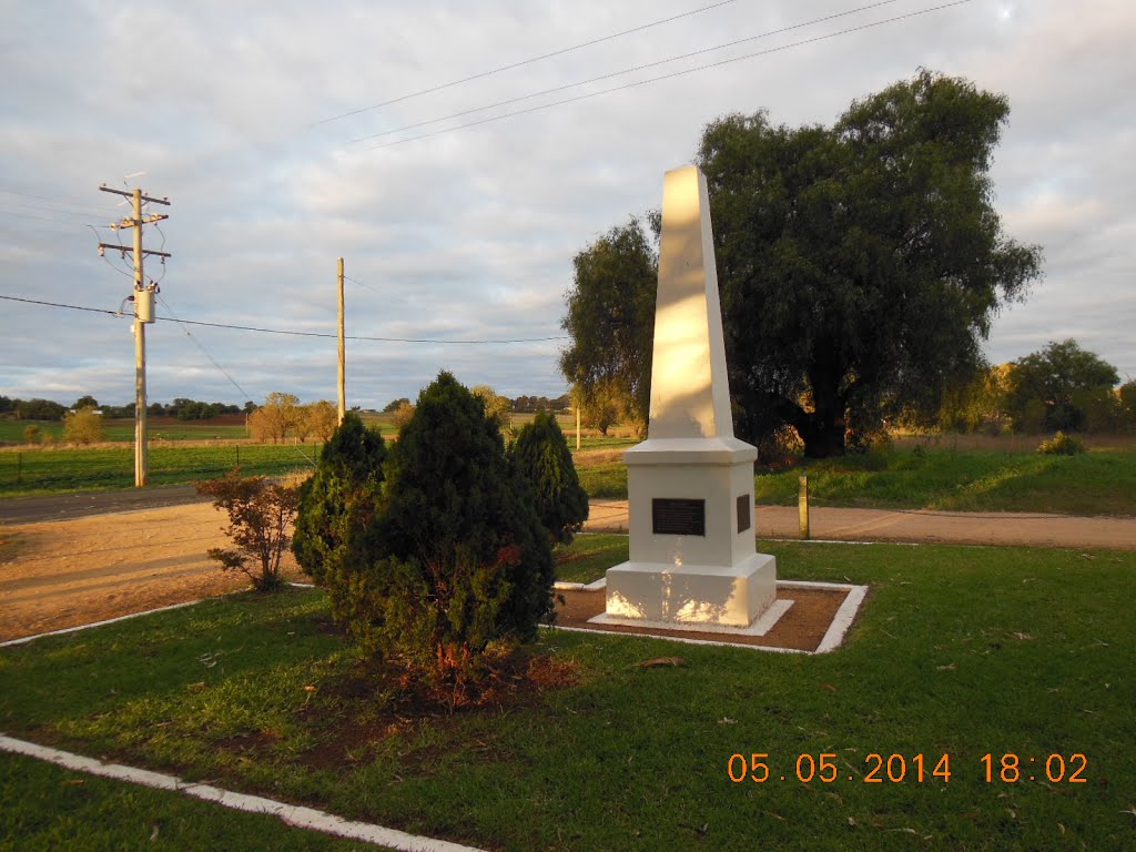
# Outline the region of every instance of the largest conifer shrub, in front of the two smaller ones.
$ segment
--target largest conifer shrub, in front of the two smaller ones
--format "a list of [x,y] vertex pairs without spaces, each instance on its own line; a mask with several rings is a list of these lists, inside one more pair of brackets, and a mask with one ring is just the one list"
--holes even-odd
[[449,373],[418,396],[384,473],[356,557],[325,582],[365,650],[460,703],[552,611],[549,536],[496,424]]

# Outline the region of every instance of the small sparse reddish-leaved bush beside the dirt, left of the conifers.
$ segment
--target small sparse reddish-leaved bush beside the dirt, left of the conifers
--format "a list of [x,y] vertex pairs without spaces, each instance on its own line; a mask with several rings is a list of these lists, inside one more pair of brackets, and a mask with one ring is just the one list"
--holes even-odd
[[237,550],[210,548],[209,558],[225,570],[240,570],[259,592],[284,585],[281,558],[289,546],[289,527],[300,501],[299,491],[265,476],[242,477],[240,468],[218,479],[193,483],[212,498],[214,508],[228,513],[225,528]]

